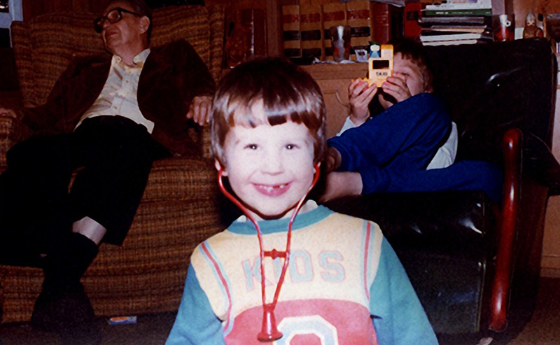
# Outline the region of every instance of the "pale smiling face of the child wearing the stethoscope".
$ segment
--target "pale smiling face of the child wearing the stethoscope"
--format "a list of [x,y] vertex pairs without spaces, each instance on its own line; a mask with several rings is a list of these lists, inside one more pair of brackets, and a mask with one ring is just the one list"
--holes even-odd
[[[241,109],[236,112],[244,111]],[[262,101],[253,106],[252,113],[264,118]],[[289,211],[311,186],[313,138],[302,123],[235,125],[225,137],[224,150],[224,175],[237,197],[258,218],[290,216]],[[216,161],[216,168],[220,167]]]

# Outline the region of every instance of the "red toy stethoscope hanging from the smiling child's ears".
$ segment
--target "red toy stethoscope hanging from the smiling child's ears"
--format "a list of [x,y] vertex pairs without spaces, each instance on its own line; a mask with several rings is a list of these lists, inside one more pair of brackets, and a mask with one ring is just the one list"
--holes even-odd
[[[320,171],[319,171],[320,166],[321,163],[315,164],[314,166],[315,174],[313,176],[313,181],[311,181],[311,186],[309,186],[309,189],[307,190],[305,195],[302,197],[302,199],[300,199],[300,201],[295,206],[293,214],[290,218],[290,222],[288,223],[288,234],[286,235],[287,237],[286,251],[276,251],[276,249],[272,249],[272,251],[265,251],[262,248],[262,232],[260,232],[260,227],[258,226],[258,222],[255,220],[255,218],[253,218],[253,216],[251,216],[251,213],[249,213],[249,211],[244,206],[244,204],[241,204],[241,202],[236,197],[231,195],[230,192],[228,192],[228,190],[225,189],[222,181],[223,172],[224,172],[223,168],[221,168],[218,171],[218,185],[220,186],[220,190],[223,192],[223,194],[226,197],[228,197],[228,199],[230,199],[237,207],[239,207],[239,209],[241,209],[243,213],[245,213],[245,216],[247,216],[247,218],[249,218],[251,222],[253,222],[257,230],[258,245],[260,248],[260,292],[262,295],[262,330],[257,335],[257,339],[260,342],[274,342],[274,340],[278,340],[282,337],[282,332],[280,332],[278,328],[276,328],[276,318],[274,317],[274,308],[276,307],[276,303],[278,302],[278,296],[280,295],[280,289],[282,288],[284,276],[286,276],[286,270],[288,269],[288,261],[290,260],[290,243],[292,239],[292,225],[295,219],[295,215],[297,214],[298,211],[300,211],[300,208],[304,203],[305,199],[307,198],[307,195],[309,195],[309,192],[311,192],[311,189],[314,188],[315,184],[318,181],[320,175]],[[265,265],[263,264],[263,262],[265,261],[265,257],[267,256],[272,258],[272,260],[276,258],[284,259],[284,263],[282,265],[282,272],[280,274],[280,278],[278,279],[278,283],[276,284],[276,290],[274,290],[274,299],[272,300],[272,303],[267,303],[266,291],[265,291]]]

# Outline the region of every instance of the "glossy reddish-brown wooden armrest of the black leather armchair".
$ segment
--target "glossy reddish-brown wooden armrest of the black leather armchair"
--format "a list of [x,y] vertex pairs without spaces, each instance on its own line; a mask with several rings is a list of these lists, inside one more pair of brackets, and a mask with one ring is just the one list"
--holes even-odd
[[489,328],[500,332],[507,325],[507,306],[514,262],[519,197],[521,192],[521,131],[509,129],[503,138],[504,184],[499,226],[496,274],[492,281]]

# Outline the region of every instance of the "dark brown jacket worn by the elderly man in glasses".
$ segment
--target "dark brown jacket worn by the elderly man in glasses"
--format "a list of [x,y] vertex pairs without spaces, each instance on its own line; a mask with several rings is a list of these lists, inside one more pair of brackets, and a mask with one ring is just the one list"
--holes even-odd
[[[99,97],[109,76],[111,56],[82,57],[62,73],[45,104],[22,109],[22,121],[47,134],[72,132],[81,116]],[[142,115],[154,122],[153,138],[172,153],[199,153],[188,135],[193,97],[213,94],[214,79],[194,48],[176,41],[152,48],[138,85]]]

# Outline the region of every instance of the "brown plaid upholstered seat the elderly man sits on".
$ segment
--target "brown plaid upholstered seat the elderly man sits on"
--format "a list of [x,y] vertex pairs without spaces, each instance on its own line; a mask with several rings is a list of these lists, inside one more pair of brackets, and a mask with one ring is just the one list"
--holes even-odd
[[[25,106],[45,101],[73,57],[105,52],[92,29],[94,17],[57,13],[13,23],[13,50]],[[152,46],[186,38],[218,80],[223,7],[158,8],[153,25]],[[0,171],[6,168],[8,148],[28,135],[18,120],[0,118]],[[202,157],[155,162],[125,243],[122,247],[101,246],[87,269],[82,281],[97,316],[176,310],[191,251],[209,234],[223,229],[207,130],[193,132],[193,136],[200,143]],[[1,321],[28,321],[42,281],[40,268],[0,266]]]

